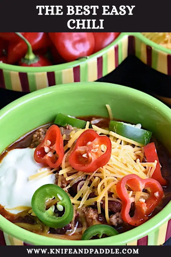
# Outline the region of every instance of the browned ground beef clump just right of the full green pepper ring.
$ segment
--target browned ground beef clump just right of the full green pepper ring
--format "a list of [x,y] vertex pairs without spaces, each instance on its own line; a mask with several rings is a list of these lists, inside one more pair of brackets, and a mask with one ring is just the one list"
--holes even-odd
[[85,215],[86,222],[89,226],[95,225],[95,224],[105,224],[105,217],[103,214],[98,214],[97,209],[93,209],[91,207],[85,207],[82,208],[82,211]]

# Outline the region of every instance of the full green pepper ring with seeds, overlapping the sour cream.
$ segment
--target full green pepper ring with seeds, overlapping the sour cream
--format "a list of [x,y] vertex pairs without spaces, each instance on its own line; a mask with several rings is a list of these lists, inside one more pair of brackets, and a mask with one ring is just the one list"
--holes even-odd
[[[46,201],[55,198],[58,200],[57,208],[65,212],[62,217],[57,217],[54,213],[55,206],[46,210]],[[66,192],[55,184],[46,184],[38,188],[32,196],[32,210],[39,220],[50,228],[63,228],[68,225],[74,214],[73,205]]]

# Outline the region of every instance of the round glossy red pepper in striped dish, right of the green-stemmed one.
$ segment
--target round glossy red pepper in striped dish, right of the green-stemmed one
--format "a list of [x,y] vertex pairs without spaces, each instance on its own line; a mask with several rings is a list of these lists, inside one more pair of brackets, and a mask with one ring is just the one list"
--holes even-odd
[[68,62],[93,53],[95,41],[91,32],[55,32],[49,33],[49,36],[59,54]]

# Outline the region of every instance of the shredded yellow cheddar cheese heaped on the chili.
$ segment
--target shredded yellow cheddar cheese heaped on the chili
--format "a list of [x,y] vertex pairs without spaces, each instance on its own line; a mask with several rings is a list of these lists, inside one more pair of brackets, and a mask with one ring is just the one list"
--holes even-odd
[[[113,120],[113,114],[110,106],[106,105],[106,108],[109,113],[109,118]],[[56,173],[56,183],[58,186],[63,188],[63,182],[66,182],[66,186],[63,189],[69,195],[72,204],[74,204],[74,213],[76,211],[79,212],[79,218],[82,222],[82,228],[80,231],[82,231],[82,233],[84,233],[87,228],[83,210],[84,207],[97,204],[98,214],[100,214],[102,207],[101,204],[103,201],[105,218],[107,224],[110,225],[111,223],[108,210],[109,201],[121,202],[116,191],[117,182],[128,174],[136,174],[143,179],[151,178],[157,164],[157,160],[155,160],[154,162],[144,162],[143,144],[135,142],[134,140],[131,140],[129,138],[125,138],[124,136],[121,136],[113,131],[99,128],[96,125],[92,125],[92,128],[89,128],[89,125],[90,122],[87,121],[84,129],[74,129],[70,132],[70,135],[68,137],[70,139],[64,146],[64,157],[61,163],[61,170],[58,172],[58,174]],[[69,163],[69,157],[75,147],[77,139],[85,130],[88,129],[93,129],[97,132],[97,134],[107,135],[111,140],[112,146],[109,162],[105,166],[98,168],[94,172],[83,172],[76,170]],[[62,138],[63,140],[65,140],[66,135],[64,134]],[[102,152],[105,152],[107,150],[107,146],[101,145],[100,150]],[[38,179],[42,176],[52,174],[55,170],[57,169],[52,170],[50,169],[50,167],[47,167],[47,170],[43,172],[39,171],[37,174],[30,176],[28,179]],[[74,197],[72,197],[67,190],[76,183],[78,183],[78,192],[75,194]],[[133,198],[133,201],[135,202],[139,200],[144,201],[150,195],[150,192],[148,191],[130,191],[130,188],[127,185],[126,188],[128,196]],[[109,192],[112,193],[112,196],[110,197],[108,196]],[[92,198],[90,198],[91,193],[93,193]],[[48,207],[51,204],[55,204],[55,201],[56,200],[50,200],[48,202]],[[34,215],[32,210],[29,210],[29,213],[31,215]]]

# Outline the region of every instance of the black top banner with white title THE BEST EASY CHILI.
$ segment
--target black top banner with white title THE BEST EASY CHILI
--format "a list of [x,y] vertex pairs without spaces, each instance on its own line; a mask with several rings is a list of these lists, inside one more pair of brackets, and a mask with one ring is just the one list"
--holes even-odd
[[0,2],[1,32],[165,32],[171,2],[163,0]]

